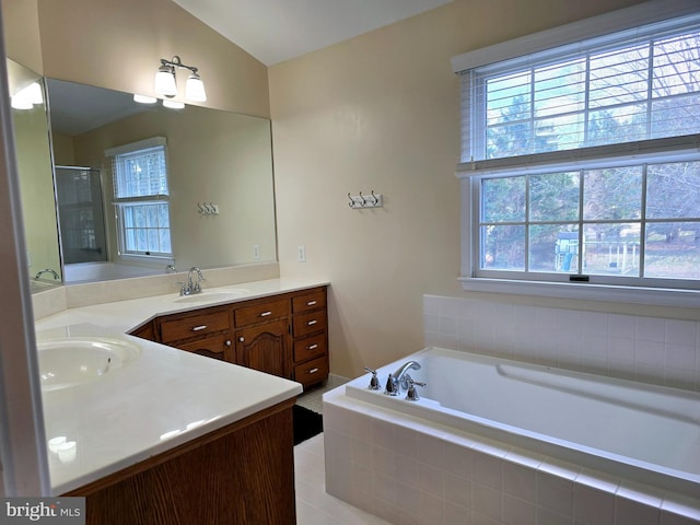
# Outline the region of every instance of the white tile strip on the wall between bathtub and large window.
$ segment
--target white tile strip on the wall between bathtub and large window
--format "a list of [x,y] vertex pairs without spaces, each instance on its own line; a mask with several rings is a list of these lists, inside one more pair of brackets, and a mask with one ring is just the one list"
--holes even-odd
[[423,343],[700,392],[700,322],[423,296]]

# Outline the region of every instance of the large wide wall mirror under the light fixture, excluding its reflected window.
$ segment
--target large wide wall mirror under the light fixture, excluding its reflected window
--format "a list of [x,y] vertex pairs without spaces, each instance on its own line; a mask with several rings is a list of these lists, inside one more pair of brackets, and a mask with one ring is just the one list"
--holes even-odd
[[[54,161],[70,168],[68,174],[57,168],[56,174],[67,284],[164,273],[170,264],[182,271],[277,260],[268,119],[190,105],[168,109],[160,101],[139,104],[128,93],[54,79],[47,79],[47,91]],[[153,137],[167,141],[173,259],[144,261],[119,254],[112,164],[105,151]],[[91,175],[83,168],[91,168]],[[77,212],[75,199],[67,205],[61,197],[61,185],[73,188],[74,179],[95,179],[95,174],[96,182],[82,191],[88,197],[79,200],[83,207],[90,199],[102,208],[104,226],[92,212]],[[70,182],[62,183],[62,177]],[[67,221],[69,206],[73,209]],[[68,229],[83,215],[77,226],[82,241],[69,247],[67,238],[74,232]],[[102,244],[96,240],[101,228]],[[74,255],[81,252],[85,261],[77,262]]]

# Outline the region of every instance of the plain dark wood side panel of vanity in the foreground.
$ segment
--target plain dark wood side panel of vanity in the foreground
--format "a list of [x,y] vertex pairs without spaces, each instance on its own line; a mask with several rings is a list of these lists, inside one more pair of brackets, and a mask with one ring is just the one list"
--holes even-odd
[[65,495],[86,498],[88,525],[293,525],[293,404],[276,405]]

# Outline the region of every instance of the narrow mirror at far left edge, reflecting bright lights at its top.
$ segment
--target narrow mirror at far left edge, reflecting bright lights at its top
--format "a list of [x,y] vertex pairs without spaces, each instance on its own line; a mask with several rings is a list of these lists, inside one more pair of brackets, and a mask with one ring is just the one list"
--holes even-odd
[[[31,290],[61,284],[49,130],[42,77],[7,59]],[[23,90],[34,89],[34,93]]]

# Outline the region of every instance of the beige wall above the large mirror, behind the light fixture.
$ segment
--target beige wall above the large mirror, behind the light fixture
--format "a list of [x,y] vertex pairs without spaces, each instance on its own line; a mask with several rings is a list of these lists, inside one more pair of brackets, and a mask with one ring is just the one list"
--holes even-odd
[[201,105],[269,117],[267,68],[171,0],[38,0],[38,15],[46,77],[148,95],[178,55],[199,68]]

